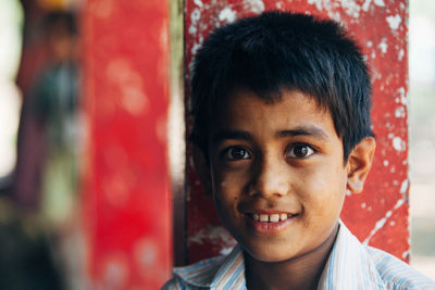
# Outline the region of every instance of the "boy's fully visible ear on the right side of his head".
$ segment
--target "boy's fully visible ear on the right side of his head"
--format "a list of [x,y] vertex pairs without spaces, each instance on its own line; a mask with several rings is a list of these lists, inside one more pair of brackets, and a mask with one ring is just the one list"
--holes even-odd
[[347,188],[360,193],[372,167],[376,141],[373,137],[362,139],[350,152],[347,161]]

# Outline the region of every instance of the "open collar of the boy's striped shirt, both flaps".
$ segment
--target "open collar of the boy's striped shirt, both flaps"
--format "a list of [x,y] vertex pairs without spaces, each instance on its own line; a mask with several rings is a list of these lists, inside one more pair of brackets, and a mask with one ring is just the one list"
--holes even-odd
[[[244,254],[239,244],[227,256],[175,268],[174,274],[196,287],[246,289]],[[332,289],[385,289],[368,251],[341,220],[318,286],[318,290]]]

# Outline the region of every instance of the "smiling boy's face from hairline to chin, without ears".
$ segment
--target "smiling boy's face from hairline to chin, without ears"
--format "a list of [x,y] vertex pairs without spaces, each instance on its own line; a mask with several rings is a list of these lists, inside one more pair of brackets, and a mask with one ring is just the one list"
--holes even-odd
[[266,103],[239,90],[220,108],[210,140],[217,213],[249,254],[285,261],[330,237],[349,166],[327,110],[297,91]]

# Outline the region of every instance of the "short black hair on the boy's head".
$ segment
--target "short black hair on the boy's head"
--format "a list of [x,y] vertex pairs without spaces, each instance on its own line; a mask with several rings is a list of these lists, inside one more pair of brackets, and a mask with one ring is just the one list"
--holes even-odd
[[364,56],[331,20],[264,12],[212,31],[191,66],[192,142],[208,155],[217,104],[236,89],[275,102],[283,89],[301,91],[328,110],[344,159],[371,128],[371,81]]

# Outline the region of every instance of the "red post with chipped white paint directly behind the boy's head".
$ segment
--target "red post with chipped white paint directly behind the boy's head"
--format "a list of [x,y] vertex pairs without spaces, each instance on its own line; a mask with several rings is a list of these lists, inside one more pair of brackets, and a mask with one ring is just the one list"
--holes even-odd
[[[291,10],[341,21],[361,43],[373,73],[377,149],[363,193],[347,196],[341,218],[361,241],[408,261],[407,1],[186,0],[187,73],[192,55],[211,29],[265,10]],[[186,84],[188,80],[189,75]],[[192,167],[187,171],[187,248],[189,262],[195,262],[227,251],[234,241],[215,212],[209,210],[213,209],[212,201],[203,193]]]

